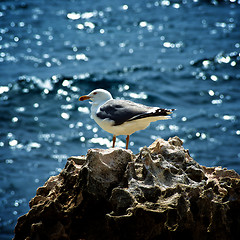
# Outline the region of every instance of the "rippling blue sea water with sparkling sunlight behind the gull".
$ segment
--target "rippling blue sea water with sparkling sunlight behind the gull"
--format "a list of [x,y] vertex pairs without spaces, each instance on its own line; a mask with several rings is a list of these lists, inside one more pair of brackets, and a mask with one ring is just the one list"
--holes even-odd
[[240,173],[239,1],[1,1],[0,239],[67,157],[111,146],[78,101],[95,88],[177,108],[131,136],[134,153],[178,135]]

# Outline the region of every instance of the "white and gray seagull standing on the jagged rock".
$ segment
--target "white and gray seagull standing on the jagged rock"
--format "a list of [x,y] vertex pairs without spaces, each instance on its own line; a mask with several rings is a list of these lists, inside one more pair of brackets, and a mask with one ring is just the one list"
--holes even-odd
[[116,136],[126,135],[126,149],[128,149],[131,134],[147,128],[151,122],[171,119],[169,115],[175,110],[113,99],[111,93],[104,89],[95,89],[79,98],[79,101],[84,100],[92,101],[91,116],[95,122],[102,129],[113,134],[113,148]]

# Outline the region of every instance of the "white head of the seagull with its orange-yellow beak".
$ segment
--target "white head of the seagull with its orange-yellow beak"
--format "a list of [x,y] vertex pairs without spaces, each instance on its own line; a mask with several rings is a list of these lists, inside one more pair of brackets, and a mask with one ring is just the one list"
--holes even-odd
[[112,99],[112,95],[110,92],[104,89],[95,89],[88,95],[81,96],[79,98],[79,101],[91,100],[93,103],[99,104],[102,102],[106,102],[110,99]]

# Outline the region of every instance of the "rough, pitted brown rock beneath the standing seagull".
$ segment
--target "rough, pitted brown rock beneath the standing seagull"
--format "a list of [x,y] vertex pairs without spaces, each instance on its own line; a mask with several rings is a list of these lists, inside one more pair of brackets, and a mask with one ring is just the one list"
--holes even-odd
[[139,154],[90,149],[50,177],[18,239],[239,239],[240,176],[200,166],[178,137]]

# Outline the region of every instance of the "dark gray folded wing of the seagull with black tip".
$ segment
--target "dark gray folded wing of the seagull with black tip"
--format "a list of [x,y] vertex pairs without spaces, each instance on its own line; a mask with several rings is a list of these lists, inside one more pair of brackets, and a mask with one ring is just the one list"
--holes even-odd
[[126,100],[112,99],[103,104],[96,115],[101,119],[107,118],[114,121],[114,125],[117,126],[127,121],[151,116],[166,116],[168,114],[170,112],[166,109],[148,107]]

